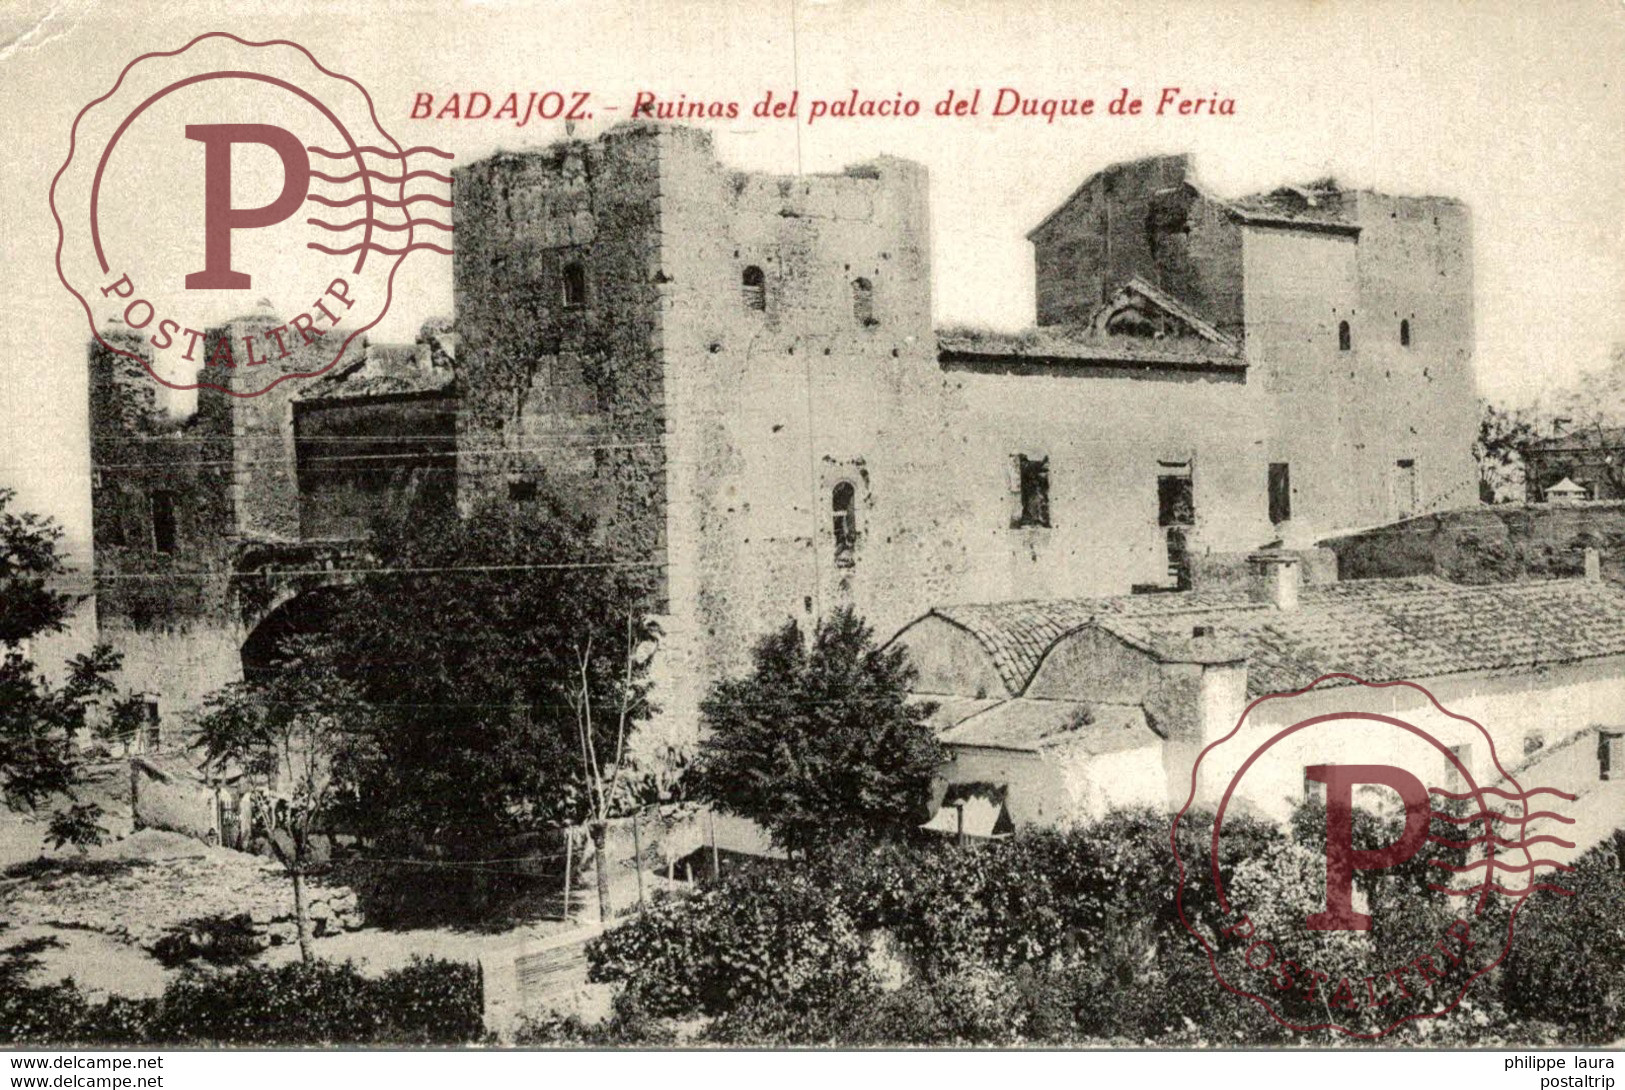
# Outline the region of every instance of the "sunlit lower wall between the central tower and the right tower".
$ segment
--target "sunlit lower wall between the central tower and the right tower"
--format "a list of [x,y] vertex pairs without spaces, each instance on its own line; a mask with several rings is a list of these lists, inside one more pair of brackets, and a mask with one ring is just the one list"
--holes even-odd
[[[952,365],[951,365],[952,367]],[[1251,385],[1168,372],[951,369],[952,536],[960,572],[938,601],[1123,595],[1167,585],[1157,479],[1188,471],[1193,565],[1271,536]],[[1048,460],[1050,525],[1012,526],[1012,456]],[[936,603],[930,603],[936,604]]]

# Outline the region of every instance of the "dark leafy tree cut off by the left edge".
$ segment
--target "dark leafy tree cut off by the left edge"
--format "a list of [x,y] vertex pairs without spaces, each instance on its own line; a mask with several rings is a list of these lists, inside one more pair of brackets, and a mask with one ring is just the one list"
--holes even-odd
[[[98,707],[106,702],[115,720],[125,720],[133,702],[115,699],[110,676],[119,655],[106,645],[70,660],[60,684],[41,676],[26,655],[28,640],[67,627],[80,599],[57,590],[67,575],[58,554],[62,530],[49,518],[11,510],[15,499],[0,489],[0,799],[13,809],[36,809],[73,794],[76,742]],[[91,843],[94,817],[84,806],[65,811],[57,832],[72,827],[73,835],[63,843]]]

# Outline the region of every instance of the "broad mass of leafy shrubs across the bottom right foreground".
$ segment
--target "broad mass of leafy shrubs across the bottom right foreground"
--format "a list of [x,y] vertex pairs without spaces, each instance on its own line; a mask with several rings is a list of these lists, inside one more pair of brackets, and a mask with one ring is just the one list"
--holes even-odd
[[[1310,828],[1315,815],[1300,824]],[[1199,825],[1181,825],[1183,906],[1212,924],[1206,845],[1191,832]],[[1259,866],[1287,867],[1302,853],[1272,825],[1232,819],[1225,830],[1227,885],[1245,885]],[[1373,827],[1370,835],[1388,833]],[[1365,890],[1378,918],[1402,918],[1354,937],[1367,955],[1425,949],[1451,918],[1438,902],[1430,913],[1381,911],[1384,902],[1419,903],[1414,884],[1428,874],[1422,864],[1414,871],[1394,869]],[[1532,900],[1503,970],[1474,984],[1458,1010],[1401,1030],[1398,1041],[1617,1040],[1625,884],[1614,851],[1592,851],[1565,879],[1578,897]],[[704,1040],[726,1045],[1303,1041],[1214,981],[1207,954],[1180,923],[1175,887],[1167,817],[1149,811],[991,845],[852,843],[806,863],[741,867],[692,898],[658,902],[590,945],[593,978],[624,984],[616,1019],[538,1023],[526,1040],[645,1043],[670,1033],[661,1019],[704,1015]],[[1289,884],[1282,895],[1300,893]],[[1487,932],[1505,926],[1480,919],[1474,931],[1480,924]],[[882,932],[889,942],[876,944]],[[900,983],[887,957],[902,962]],[[1323,1007],[1320,999],[1294,1014],[1326,1020]]]

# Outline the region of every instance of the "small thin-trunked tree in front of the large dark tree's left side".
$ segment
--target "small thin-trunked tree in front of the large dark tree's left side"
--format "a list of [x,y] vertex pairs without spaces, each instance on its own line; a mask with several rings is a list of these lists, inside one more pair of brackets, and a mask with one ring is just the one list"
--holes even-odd
[[203,700],[193,747],[203,773],[249,775],[255,828],[292,879],[299,955],[312,960],[304,880],[322,861],[317,837],[351,788],[356,747],[369,737],[367,707],[333,663],[332,648],[304,637],[263,677],[232,682]]

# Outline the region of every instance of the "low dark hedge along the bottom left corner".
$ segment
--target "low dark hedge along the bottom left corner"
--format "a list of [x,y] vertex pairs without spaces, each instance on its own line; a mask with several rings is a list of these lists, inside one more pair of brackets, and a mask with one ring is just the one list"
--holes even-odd
[[0,971],[5,1045],[465,1045],[484,1036],[479,968],[414,960],[366,978],[348,962],[185,973],[161,999],[91,1001],[29,986],[37,944]]

